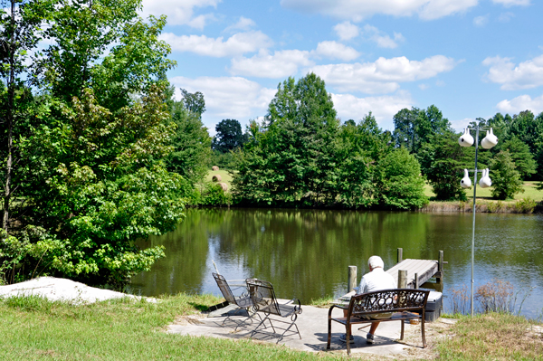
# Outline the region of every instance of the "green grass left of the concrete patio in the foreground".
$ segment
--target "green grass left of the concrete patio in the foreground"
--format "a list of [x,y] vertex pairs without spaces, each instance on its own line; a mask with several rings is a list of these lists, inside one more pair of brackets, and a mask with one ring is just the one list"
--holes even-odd
[[0,360],[337,359],[251,340],[163,332],[177,317],[220,300],[184,294],[158,303],[116,299],[84,306],[36,297],[0,300]]

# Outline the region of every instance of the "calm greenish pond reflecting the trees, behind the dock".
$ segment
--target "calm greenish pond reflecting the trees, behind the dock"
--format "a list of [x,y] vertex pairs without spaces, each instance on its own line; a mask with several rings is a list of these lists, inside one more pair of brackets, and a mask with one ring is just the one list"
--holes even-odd
[[[436,260],[443,250],[443,298],[471,283],[472,214],[390,213],[298,209],[188,209],[175,231],[140,245],[162,244],[167,258],[133,277],[130,291],[145,296],[213,293],[214,264],[227,280],[269,280],[283,299],[302,303],[347,293],[348,266],[360,277],[376,254],[385,268],[404,258]],[[517,309],[543,310],[543,216],[477,214],[475,290],[496,280],[514,286]]]

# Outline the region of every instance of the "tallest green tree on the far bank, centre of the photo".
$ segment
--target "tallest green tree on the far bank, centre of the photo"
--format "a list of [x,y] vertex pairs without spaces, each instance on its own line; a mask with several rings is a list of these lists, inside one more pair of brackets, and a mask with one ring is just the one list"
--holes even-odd
[[335,202],[338,120],[325,83],[310,73],[279,84],[265,124],[252,122],[238,153],[234,195],[251,204]]

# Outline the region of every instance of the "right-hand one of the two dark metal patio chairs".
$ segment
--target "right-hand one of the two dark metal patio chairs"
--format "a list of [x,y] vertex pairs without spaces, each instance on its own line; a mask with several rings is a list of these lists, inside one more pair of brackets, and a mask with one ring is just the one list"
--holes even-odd
[[[265,318],[262,319],[261,323],[252,330],[251,337],[254,336],[254,334],[261,326],[264,326],[265,328],[266,326],[264,325],[264,322],[268,320],[270,322],[271,328],[273,329],[273,333],[275,335],[279,335],[277,343],[281,341],[281,339],[292,328],[292,326],[296,328],[296,332],[294,332],[293,330],[291,332],[294,334],[298,333],[298,336],[300,336],[301,339],[300,330],[298,329],[298,326],[296,326],[296,318],[298,318],[298,315],[301,313],[300,299],[291,299],[290,301],[280,304],[275,297],[275,292],[273,291],[273,286],[270,282],[265,280],[245,281],[247,282],[247,289],[249,290],[249,294],[251,295],[254,309],[257,311],[257,313],[262,312],[265,315]],[[271,322],[271,315],[279,316],[281,318],[291,318],[291,320],[285,321],[278,318],[273,318],[273,322],[276,323],[275,325],[273,325],[273,323]],[[288,325],[288,327],[279,328],[277,327],[277,322],[286,324]],[[275,328],[283,330],[281,335],[277,333]]]

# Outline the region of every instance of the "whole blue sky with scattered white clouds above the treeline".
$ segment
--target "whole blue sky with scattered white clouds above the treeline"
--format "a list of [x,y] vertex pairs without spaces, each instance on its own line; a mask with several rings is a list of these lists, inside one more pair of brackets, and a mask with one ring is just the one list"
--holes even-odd
[[435,105],[452,127],[497,112],[543,111],[543,2],[536,0],[161,0],[177,67],[205,96],[205,126],[266,114],[277,85],[318,74],[338,118],[381,128]]

